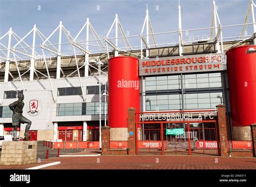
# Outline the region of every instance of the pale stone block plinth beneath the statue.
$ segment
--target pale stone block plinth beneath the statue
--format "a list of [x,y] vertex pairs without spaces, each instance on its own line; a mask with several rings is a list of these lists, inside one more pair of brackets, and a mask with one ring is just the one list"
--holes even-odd
[[37,141],[5,141],[2,145],[2,165],[36,163]]

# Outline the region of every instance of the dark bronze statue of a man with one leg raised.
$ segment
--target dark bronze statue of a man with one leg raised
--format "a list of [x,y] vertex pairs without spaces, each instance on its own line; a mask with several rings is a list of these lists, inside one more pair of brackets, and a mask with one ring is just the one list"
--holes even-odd
[[25,133],[24,136],[26,139],[26,136],[29,135],[29,129],[31,126],[31,121],[29,119],[26,119],[24,116],[22,116],[22,112],[23,112],[23,107],[24,107],[24,95],[23,93],[18,93],[18,100],[16,100],[16,102],[11,103],[9,105],[9,108],[12,110],[12,112],[14,112],[14,114],[12,114],[12,126],[14,127],[14,141],[17,141],[17,127],[19,126],[19,124],[27,124],[26,128],[25,128]]

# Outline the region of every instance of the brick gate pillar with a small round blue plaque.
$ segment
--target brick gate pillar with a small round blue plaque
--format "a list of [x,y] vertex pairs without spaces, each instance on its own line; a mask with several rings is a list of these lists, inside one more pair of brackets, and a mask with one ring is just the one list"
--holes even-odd
[[[129,155],[135,155],[136,154],[136,116],[135,112],[136,109],[129,108],[128,110],[128,132],[129,138],[128,138],[128,154]],[[132,133],[132,134],[131,134]]]

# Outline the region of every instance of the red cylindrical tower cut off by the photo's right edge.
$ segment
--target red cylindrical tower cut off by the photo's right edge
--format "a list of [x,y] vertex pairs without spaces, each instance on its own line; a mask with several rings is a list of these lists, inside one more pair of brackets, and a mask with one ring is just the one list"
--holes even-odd
[[227,52],[228,84],[232,119],[242,126],[256,123],[256,46],[241,46]]

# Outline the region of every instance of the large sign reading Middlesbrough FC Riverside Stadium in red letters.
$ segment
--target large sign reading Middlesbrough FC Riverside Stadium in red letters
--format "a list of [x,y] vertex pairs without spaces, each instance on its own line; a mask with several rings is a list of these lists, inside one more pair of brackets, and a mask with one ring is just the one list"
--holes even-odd
[[225,53],[166,56],[139,60],[140,76],[221,70],[226,70]]

